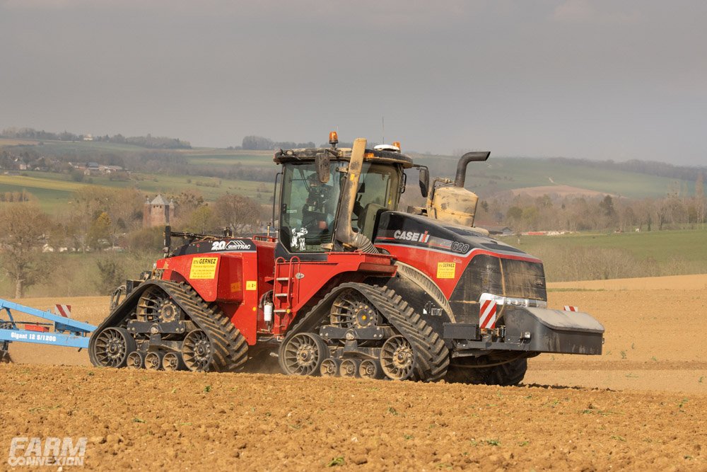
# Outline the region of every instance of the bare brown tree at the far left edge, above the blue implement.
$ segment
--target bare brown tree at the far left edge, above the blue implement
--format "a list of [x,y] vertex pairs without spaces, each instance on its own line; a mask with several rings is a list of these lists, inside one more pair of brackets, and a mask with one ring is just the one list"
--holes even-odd
[[47,276],[42,258],[45,229],[49,217],[32,203],[4,205],[0,208],[0,260],[15,282],[15,297]]

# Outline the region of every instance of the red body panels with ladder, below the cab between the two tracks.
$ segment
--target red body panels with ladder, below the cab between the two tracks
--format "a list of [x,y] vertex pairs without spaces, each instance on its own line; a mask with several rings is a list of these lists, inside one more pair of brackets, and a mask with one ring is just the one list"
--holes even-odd
[[[224,314],[255,345],[258,334],[284,335],[298,311],[311,304],[322,288],[375,275],[394,275],[390,255],[328,253],[325,261],[293,257],[274,260],[275,243],[254,239],[256,251],[207,252],[157,261],[163,280],[187,282],[204,301],[216,301]],[[282,280],[286,279],[286,280]],[[275,295],[274,321],[264,321],[259,301]]]

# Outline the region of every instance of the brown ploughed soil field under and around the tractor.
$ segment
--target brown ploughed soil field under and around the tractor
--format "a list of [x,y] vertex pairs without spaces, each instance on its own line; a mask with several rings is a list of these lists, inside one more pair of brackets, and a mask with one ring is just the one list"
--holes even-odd
[[[16,343],[0,447],[88,437],[111,470],[707,470],[707,276],[553,287],[604,323],[604,354],[541,355],[520,387],[116,371]],[[92,323],[107,305],[24,302],[61,301]]]

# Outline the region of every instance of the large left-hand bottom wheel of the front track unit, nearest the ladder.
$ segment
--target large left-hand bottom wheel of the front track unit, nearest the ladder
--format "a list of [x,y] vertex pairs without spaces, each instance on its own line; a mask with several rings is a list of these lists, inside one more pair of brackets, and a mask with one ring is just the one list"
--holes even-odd
[[329,347],[315,333],[298,333],[280,346],[280,367],[287,375],[319,375],[327,357]]

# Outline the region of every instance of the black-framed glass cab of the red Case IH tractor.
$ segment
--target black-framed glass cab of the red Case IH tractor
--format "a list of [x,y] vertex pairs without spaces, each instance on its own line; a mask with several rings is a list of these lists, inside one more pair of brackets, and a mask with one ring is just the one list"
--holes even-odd
[[[344,220],[350,221],[351,231],[370,241],[376,215],[397,209],[405,182],[403,169],[413,166],[398,146],[376,146],[383,149],[362,149],[361,171],[352,172],[352,149],[337,148],[336,133],[329,142],[330,148],[275,153],[274,161],[283,166],[277,252],[287,259],[294,253],[318,259],[317,253],[344,250],[334,238]],[[347,181],[354,178],[356,182]]]

